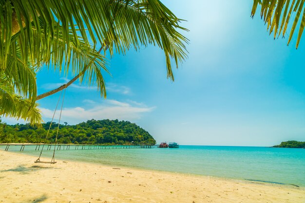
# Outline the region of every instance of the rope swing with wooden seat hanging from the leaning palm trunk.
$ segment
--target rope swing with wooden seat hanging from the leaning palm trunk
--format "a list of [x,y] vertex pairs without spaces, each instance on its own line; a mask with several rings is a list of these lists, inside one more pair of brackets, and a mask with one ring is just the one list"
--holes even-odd
[[[58,126],[57,126],[57,133],[56,133],[56,138],[55,138],[53,156],[52,156],[52,159],[51,159],[50,162],[40,161],[40,157],[41,157],[41,154],[42,154],[42,150],[43,150],[43,148],[44,148],[44,146],[45,146],[45,143],[46,143],[46,141],[47,141],[47,139],[48,139],[48,135],[49,135],[49,132],[50,132],[52,123],[53,123],[53,119],[54,119],[54,116],[55,116],[55,113],[56,113],[56,110],[57,110],[58,103],[59,103],[59,101],[60,101],[60,97],[61,97],[62,91],[64,91],[64,92],[63,92],[62,103],[61,103],[61,109],[60,109],[60,114],[59,114],[59,120],[58,120]],[[51,121],[51,123],[50,123],[50,127],[49,127],[49,129],[48,129],[47,135],[46,135],[46,137],[45,137],[44,143],[43,143],[42,148],[41,148],[41,151],[40,151],[40,155],[39,155],[38,159],[35,161],[35,163],[42,163],[42,164],[55,164],[55,163],[57,163],[57,162],[55,161],[55,158],[54,158],[54,157],[55,157],[55,149],[56,149],[56,144],[57,144],[57,136],[58,136],[58,131],[59,131],[59,124],[60,124],[60,118],[61,118],[61,112],[62,112],[63,101],[64,101],[64,99],[65,99],[66,88],[65,88],[64,90],[62,90],[62,91],[60,92],[60,95],[59,95],[59,98],[58,98],[58,101],[57,101],[57,105],[56,105],[55,111],[54,111],[54,113],[53,113],[52,121]]]

